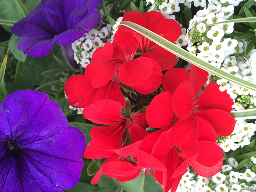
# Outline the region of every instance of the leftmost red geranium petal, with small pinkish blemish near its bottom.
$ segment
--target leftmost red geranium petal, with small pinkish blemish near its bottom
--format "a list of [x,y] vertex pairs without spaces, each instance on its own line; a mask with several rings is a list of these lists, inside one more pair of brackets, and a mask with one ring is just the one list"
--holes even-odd
[[93,88],[84,75],[74,75],[67,79],[65,93],[69,104],[75,108],[84,108],[90,104],[91,99],[99,88]]

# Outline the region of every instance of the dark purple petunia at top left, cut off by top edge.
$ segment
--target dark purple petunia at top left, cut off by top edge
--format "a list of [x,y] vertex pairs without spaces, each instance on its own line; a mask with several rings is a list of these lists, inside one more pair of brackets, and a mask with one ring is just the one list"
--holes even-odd
[[18,49],[24,54],[47,55],[55,41],[68,45],[81,38],[101,21],[94,10],[101,0],[42,0],[42,7],[11,27],[18,37]]

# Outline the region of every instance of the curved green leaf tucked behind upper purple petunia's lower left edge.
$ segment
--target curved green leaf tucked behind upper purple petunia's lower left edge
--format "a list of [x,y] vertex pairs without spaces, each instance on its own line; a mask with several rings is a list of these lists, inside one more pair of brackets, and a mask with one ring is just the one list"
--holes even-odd
[[16,35],[13,34],[9,41],[9,48],[16,59],[18,59],[21,62],[24,62],[26,60],[27,55],[25,55],[23,51],[18,50],[17,48],[21,38],[22,37],[17,37]]

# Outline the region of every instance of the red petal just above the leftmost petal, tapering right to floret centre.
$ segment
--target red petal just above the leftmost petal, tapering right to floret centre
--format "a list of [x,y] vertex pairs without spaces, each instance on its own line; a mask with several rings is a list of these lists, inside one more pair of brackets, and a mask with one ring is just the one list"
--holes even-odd
[[99,88],[113,78],[122,63],[123,61],[119,58],[106,58],[91,62],[85,68],[85,78],[93,87]]

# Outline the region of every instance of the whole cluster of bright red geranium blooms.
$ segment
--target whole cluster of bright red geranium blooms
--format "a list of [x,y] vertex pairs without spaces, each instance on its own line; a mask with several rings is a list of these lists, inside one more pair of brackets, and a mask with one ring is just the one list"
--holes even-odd
[[[123,20],[172,42],[180,35],[180,25],[159,12],[127,12]],[[217,134],[227,136],[233,131],[235,119],[229,114],[233,100],[216,83],[210,83],[197,98],[208,73],[192,65],[189,74],[172,68],[176,63],[175,55],[121,26],[113,44],[94,52],[85,75],[67,80],[70,105],[84,108],[84,117],[91,122],[106,125],[91,130],[93,140],[84,153],[89,159],[107,158],[92,184],[102,174],[130,181],[143,172],[153,175],[163,184],[163,192],[168,192],[177,189],[189,166],[204,177],[220,171],[222,149],[215,142]],[[162,70],[168,71],[162,75]],[[165,92],[155,96],[146,110],[131,114],[123,88],[151,94],[161,84]],[[161,129],[149,133],[149,126]]]

